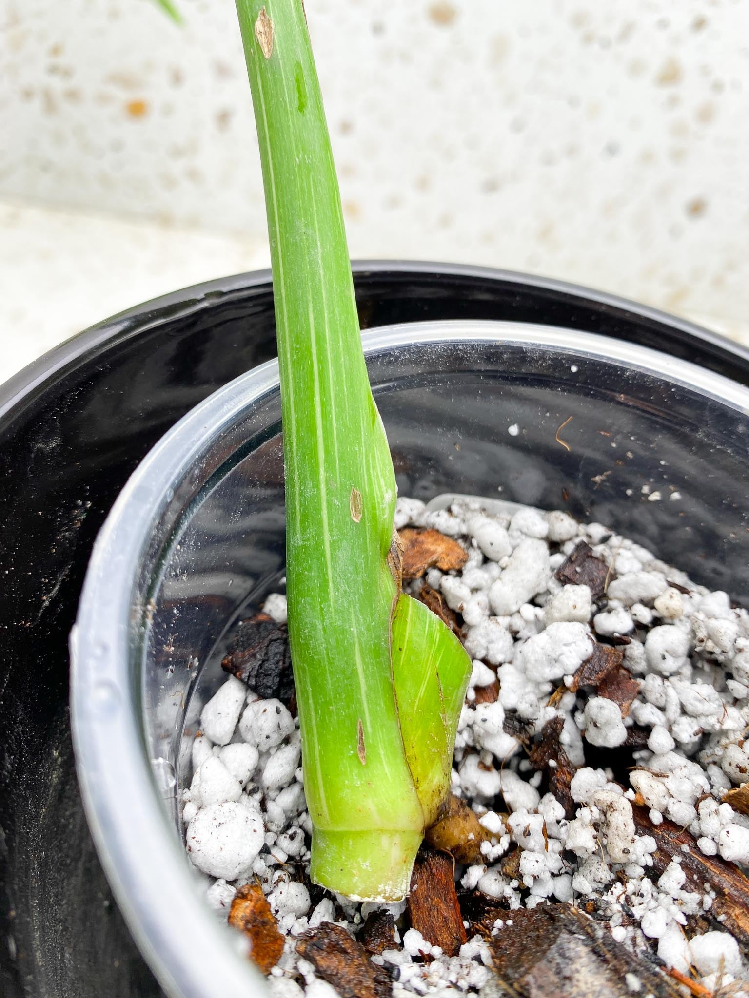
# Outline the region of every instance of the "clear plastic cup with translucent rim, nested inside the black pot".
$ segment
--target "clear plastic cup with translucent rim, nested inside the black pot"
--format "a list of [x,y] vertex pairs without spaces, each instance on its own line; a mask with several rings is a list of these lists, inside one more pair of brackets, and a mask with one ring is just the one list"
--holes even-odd
[[[364,336],[401,495],[565,509],[747,604],[749,389],[641,346],[449,321]],[[210,396],[151,451],[91,559],[73,735],[89,821],[139,945],[174,995],[264,992],[201,897],[178,788],[223,643],[284,573],[278,369]]]

